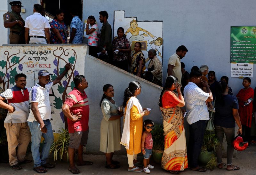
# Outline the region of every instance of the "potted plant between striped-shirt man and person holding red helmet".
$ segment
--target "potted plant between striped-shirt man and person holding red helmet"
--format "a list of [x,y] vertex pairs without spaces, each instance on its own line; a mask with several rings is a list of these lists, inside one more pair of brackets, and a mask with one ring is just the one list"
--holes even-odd
[[216,150],[222,147],[214,131],[205,131],[199,161],[205,168],[213,170],[216,166]]

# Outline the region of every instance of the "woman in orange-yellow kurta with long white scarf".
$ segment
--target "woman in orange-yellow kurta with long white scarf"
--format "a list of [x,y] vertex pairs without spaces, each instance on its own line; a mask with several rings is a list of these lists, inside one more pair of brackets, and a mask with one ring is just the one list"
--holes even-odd
[[124,91],[124,130],[122,134],[121,144],[127,150],[128,171],[141,172],[143,171],[137,165],[137,154],[141,152],[141,136],[143,116],[148,115],[147,109],[142,109],[139,100],[136,98],[140,94],[141,86],[137,81],[129,83],[128,88]]

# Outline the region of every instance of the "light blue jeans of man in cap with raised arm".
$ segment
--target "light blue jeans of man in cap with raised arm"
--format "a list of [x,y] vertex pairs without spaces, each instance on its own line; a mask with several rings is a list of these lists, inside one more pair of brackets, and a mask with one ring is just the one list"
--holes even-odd
[[[53,133],[52,133],[52,124],[50,120],[43,120],[45,127],[47,128],[47,132],[43,133],[40,130],[40,124],[37,121],[28,122],[28,126],[31,132],[31,152],[34,160],[34,168],[41,166],[46,163],[46,159],[49,157],[49,152],[53,143]],[[42,154],[40,156],[39,147],[41,142],[41,136],[44,138],[44,146],[42,150]]]

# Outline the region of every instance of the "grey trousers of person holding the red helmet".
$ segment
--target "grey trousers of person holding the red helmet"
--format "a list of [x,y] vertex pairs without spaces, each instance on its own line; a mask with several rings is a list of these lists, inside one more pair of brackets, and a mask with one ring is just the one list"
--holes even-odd
[[[224,134],[226,135],[226,140],[227,140],[227,164],[231,165],[232,164],[232,158],[234,154],[234,148],[232,147],[232,139],[235,137],[235,127],[234,128],[224,128],[221,126],[216,126],[215,125],[215,134],[220,140],[220,144],[222,145]],[[216,150],[217,154],[217,162],[222,163],[222,149],[221,147]]]

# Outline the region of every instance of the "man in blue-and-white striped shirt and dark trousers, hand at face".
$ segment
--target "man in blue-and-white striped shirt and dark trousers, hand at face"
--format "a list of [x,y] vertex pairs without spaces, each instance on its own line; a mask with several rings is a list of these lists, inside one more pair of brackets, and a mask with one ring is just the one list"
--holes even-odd
[[[206,92],[198,86],[205,87]],[[199,71],[191,72],[189,83],[184,88],[186,118],[189,124],[188,166],[191,170],[207,171],[198,165],[198,156],[203,143],[206,121],[209,120],[206,101],[211,102],[212,99],[212,92],[207,82],[202,80],[202,73]]]

